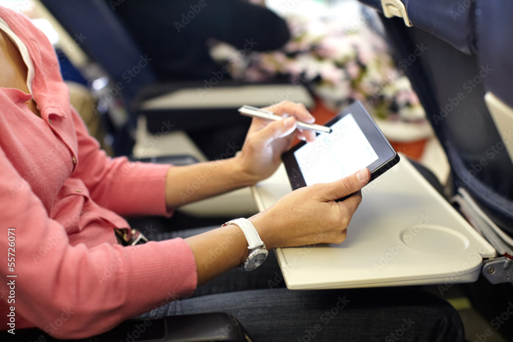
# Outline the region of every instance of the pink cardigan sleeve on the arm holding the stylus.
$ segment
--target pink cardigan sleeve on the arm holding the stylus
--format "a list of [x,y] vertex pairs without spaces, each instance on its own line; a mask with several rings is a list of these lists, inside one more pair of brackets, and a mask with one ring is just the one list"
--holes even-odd
[[166,215],[166,173],[170,165],[110,158],[89,135],[76,110],[71,115],[78,141],[77,167],[80,178],[95,203],[120,215]]

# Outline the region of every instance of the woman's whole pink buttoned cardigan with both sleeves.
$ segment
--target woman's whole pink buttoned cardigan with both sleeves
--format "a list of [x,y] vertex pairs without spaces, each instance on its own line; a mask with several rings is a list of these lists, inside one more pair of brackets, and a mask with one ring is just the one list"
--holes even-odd
[[120,215],[170,215],[169,166],[107,157],[70,107],[46,36],[11,10],[0,7],[0,17],[27,45],[42,116],[25,104],[32,94],[0,88],[1,329],[12,328],[14,307],[16,329],[81,338],[190,295],[197,275],[184,240],[122,247],[113,231],[128,227]]

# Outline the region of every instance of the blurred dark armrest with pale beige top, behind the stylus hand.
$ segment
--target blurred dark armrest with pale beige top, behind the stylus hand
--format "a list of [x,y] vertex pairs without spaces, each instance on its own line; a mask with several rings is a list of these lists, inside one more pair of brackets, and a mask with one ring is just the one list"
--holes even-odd
[[[266,107],[281,99],[301,102],[307,107],[314,104],[306,86],[280,81],[246,83],[222,79],[215,87],[205,84],[205,81],[190,81],[144,87],[131,103],[132,112],[146,116],[150,133],[160,132],[162,122],[170,118],[173,129],[191,133],[227,126],[249,127],[251,118],[240,115],[237,110],[243,105]],[[184,103],[183,96],[192,100]]]

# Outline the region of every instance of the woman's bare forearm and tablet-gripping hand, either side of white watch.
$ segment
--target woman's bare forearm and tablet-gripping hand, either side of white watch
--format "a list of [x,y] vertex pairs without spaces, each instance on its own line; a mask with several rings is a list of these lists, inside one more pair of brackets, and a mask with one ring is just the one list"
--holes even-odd
[[[292,191],[273,206],[251,216],[268,249],[321,243],[340,244],[347,225],[362,200],[370,179],[369,169],[332,183],[315,184]],[[336,199],[352,194],[342,202]],[[227,225],[185,239],[196,260],[198,284],[239,266],[248,257],[242,229]]]

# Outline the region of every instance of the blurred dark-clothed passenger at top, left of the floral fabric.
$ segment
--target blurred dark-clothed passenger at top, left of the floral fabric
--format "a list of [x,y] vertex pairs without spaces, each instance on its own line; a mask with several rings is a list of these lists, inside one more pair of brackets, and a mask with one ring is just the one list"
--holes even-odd
[[105,1],[152,58],[161,81],[203,79],[219,71],[209,54],[210,39],[245,51],[269,51],[290,38],[283,18],[243,0]]

